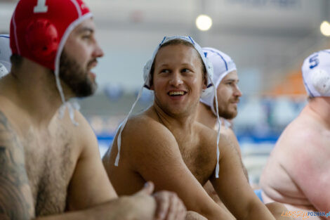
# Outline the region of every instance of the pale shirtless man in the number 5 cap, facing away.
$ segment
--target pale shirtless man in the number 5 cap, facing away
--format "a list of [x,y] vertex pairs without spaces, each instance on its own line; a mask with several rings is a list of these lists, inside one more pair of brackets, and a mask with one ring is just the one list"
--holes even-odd
[[263,200],[282,202],[289,211],[330,211],[329,60],[330,50],[305,59],[308,104],[284,129],[260,178]]

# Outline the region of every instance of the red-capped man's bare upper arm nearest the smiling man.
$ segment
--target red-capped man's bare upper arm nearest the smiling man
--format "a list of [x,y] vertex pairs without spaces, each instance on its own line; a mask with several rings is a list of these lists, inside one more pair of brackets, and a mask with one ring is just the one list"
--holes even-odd
[[78,127],[74,136],[81,147],[74,174],[68,189],[69,210],[86,209],[117,198],[103,167],[98,141],[86,119],[76,112]]

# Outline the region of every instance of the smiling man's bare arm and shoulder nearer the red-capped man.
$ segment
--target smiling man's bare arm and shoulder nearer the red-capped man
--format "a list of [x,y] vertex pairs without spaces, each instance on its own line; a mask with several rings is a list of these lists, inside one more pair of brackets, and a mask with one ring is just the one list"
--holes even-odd
[[126,127],[126,131],[135,134],[124,134],[131,138],[122,142],[122,148],[130,152],[132,169],[143,179],[153,181],[157,190],[176,192],[188,210],[198,212],[208,219],[231,219],[213,202],[190,172],[171,132],[154,122],[148,123],[143,123],[143,130],[134,128],[134,125]]

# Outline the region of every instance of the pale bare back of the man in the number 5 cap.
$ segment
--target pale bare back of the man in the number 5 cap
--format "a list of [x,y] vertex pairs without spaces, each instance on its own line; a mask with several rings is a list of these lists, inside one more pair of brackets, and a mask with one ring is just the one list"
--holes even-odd
[[328,212],[330,129],[309,107],[283,131],[260,179],[265,201]]

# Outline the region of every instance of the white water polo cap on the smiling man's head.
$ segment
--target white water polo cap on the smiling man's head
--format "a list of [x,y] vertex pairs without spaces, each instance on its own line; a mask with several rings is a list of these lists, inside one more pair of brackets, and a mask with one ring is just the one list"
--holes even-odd
[[[152,64],[154,63],[154,58],[156,58],[156,55],[159,51],[159,48],[161,48],[161,46],[163,44],[166,44],[169,41],[173,41],[175,39],[181,39],[183,41],[187,41],[188,43],[192,44],[192,46],[194,46],[194,48],[196,49],[196,51],[199,53],[199,56],[201,56],[203,63],[205,65],[206,68],[206,73],[207,73],[207,87],[211,87],[212,84],[212,78],[213,78],[213,65],[210,62],[210,60],[208,58],[205,57],[205,54],[203,53],[202,47],[199,46],[199,44],[197,44],[196,41],[194,41],[192,39],[192,37],[189,36],[175,36],[175,37],[164,37],[164,39],[160,42],[160,44],[157,46],[157,48],[154,50],[154,53],[152,54],[152,58],[150,60],[147,61],[147,63],[145,63],[145,67],[143,68],[143,79],[145,80],[145,88],[150,89],[151,86],[151,68],[152,68]],[[204,91],[202,93],[202,96],[204,96]]]

